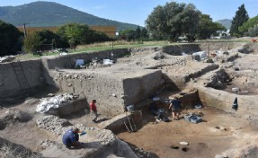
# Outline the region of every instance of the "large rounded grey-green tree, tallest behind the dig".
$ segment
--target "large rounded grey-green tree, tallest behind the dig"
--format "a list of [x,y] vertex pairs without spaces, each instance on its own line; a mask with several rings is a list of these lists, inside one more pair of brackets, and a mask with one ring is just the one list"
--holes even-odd
[[180,36],[187,36],[189,40],[194,40],[199,21],[200,11],[193,4],[171,2],[156,6],[148,15],[146,25],[147,30],[159,39],[177,40]]

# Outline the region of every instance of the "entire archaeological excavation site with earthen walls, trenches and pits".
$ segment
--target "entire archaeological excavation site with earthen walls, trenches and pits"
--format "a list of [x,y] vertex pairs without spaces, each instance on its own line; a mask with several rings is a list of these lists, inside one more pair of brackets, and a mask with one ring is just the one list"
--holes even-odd
[[[0,157],[258,157],[257,61],[257,43],[221,41],[0,63]],[[86,134],[68,149],[72,127]]]

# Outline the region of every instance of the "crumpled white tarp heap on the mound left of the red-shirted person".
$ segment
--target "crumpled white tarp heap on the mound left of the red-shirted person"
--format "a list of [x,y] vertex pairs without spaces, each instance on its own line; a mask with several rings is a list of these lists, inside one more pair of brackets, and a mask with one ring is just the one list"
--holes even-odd
[[74,95],[72,93],[64,93],[51,98],[42,98],[40,104],[37,105],[37,112],[46,113],[50,109],[58,109],[61,103],[73,101]]

